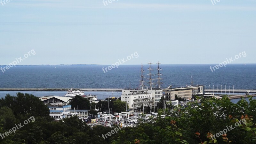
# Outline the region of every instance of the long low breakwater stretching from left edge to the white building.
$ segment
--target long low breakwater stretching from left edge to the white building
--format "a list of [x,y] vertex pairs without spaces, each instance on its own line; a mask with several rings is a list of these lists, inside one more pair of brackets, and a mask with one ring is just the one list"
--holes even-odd
[[[68,91],[70,88],[0,88],[0,91]],[[80,91],[121,92],[123,88],[73,88]]]

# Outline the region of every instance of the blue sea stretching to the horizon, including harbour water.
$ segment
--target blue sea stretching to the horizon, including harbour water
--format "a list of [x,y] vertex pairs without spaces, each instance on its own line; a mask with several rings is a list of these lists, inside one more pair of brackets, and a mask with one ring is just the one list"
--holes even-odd
[[[256,64],[227,64],[212,71],[216,64],[160,64],[162,88],[205,85],[205,89],[217,87],[227,91],[234,89],[256,89]],[[25,65],[0,71],[0,88],[138,88],[141,79],[141,65],[119,65],[105,72],[109,65]],[[0,66],[4,67],[4,66]],[[157,82],[157,64],[151,65],[153,82]],[[143,65],[144,81],[148,82],[148,64]],[[147,85],[147,84],[146,84]],[[0,91],[0,97],[15,95],[18,91]],[[36,96],[64,95],[59,91],[21,91]],[[85,92],[98,98],[112,96],[112,92]],[[113,92],[118,97],[121,92]]]

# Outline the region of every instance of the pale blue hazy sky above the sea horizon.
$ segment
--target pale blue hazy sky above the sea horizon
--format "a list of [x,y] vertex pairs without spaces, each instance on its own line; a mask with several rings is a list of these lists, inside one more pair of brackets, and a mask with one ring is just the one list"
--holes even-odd
[[255,46],[255,0],[0,0],[0,65],[248,64]]

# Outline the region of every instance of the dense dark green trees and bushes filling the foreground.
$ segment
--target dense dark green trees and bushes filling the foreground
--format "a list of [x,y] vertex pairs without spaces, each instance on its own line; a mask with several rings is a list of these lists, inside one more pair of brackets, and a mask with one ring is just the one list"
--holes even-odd
[[[102,134],[107,134],[114,128],[96,126],[91,129],[77,117],[54,122],[48,116],[47,106],[36,96],[18,93],[17,96],[7,95],[0,99],[0,133],[9,131],[15,124],[23,123],[29,117],[34,116],[35,121],[3,139],[0,137],[0,143],[252,144],[256,143],[256,100],[249,100],[250,102],[247,102],[242,98],[235,104],[227,97],[220,100],[202,99],[201,104],[191,104],[187,108],[159,109],[157,118],[141,118],[137,127],[122,128],[104,139]],[[239,124],[238,127],[212,140],[211,134],[219,133],[230,125],[234,127],[241,119],[245,119],[246,124]]]

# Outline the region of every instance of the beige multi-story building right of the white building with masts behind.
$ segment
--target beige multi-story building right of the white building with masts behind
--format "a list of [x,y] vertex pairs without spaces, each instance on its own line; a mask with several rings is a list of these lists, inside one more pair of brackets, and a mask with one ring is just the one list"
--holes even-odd
[[174,87],[171,86],[165,88],[163,94],[165,95],[165,99],[167,101],[175,100],[175,95],[184,99],[192,99],[193,95],[196,93],[203,93],[204,94],[204,86],[187,86],[187,87]]

